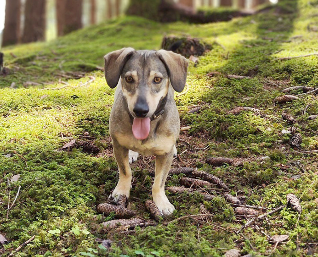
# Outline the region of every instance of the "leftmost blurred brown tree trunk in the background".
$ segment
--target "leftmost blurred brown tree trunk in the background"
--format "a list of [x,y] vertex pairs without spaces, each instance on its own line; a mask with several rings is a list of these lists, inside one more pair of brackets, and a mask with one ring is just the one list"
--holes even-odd
[[6,0],[2,46],[16,44],[20,36],[20,0]]

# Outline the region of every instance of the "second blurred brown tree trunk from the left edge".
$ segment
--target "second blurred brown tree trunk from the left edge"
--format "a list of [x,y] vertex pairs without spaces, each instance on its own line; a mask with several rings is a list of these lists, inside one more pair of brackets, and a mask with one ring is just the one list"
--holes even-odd
[[22,42],[28,43],[45,39],[45,2],[45,0],[26,0]]

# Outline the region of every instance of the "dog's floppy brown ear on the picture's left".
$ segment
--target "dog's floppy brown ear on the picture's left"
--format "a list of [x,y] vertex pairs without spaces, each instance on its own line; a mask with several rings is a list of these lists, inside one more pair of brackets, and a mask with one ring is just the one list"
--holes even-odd
[[134,52],[134,48],[128,47],[111,52],[104,56],[105,78],[108,86],[110,86],[111,88],[117,86],[121,71],[124,68],[126,61],[128,61],[128,59]]

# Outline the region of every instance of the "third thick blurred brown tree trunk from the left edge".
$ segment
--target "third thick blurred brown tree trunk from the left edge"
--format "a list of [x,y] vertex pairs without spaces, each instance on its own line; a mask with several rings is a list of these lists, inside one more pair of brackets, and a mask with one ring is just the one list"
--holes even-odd
[[83,0],[56,0],[58,36],[82,28]]

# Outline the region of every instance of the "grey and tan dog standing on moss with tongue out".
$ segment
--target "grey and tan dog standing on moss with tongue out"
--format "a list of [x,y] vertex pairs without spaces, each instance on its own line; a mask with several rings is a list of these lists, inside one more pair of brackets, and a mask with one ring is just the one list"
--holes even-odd
[[105,78],[116,88],[109,118],[109,133],[119,169],[119,181],[109,196],[129,197],[132,173],[129,161],[138,154],[156,155],[152,197],[163,215],[175,210],[164,185],[176,155],[180,118],[174,91],[185,86],[188,61],[171,51],[122,48],[106,54]]

